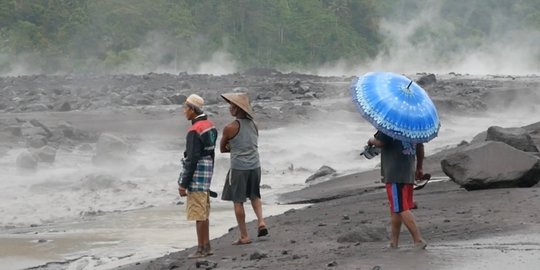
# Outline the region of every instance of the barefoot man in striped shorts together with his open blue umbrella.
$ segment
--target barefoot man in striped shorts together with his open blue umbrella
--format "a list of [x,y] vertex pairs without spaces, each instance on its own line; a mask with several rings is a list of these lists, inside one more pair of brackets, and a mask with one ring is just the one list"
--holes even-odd
[[390,248],[398,247],[401,225],[405,224],[414,248],[425,249],[427,243],[410,209],[414,208],[414,181],[423,176],[423,143],[435,138],[440,127],[435,105],[412,80],[388,72],[367,73],[356,79],[351,94],[359,112],[377,129],[364,156],[381,153],[381,174],[391,213]]

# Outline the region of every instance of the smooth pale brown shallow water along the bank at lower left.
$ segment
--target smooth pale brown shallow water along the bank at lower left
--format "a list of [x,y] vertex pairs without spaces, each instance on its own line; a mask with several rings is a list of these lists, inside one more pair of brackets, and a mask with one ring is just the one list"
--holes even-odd
[[[265,215],[291,208],[264,205]],[[47,262],[49,269],[111,269],[117,265],[162,256],[196,244],[193,222],[186,221],[184,205],[108,213],[82,221],[0,234],[0,269],[23,269]],[[250,209],[247,209],[250,210]],[[253,211],[246,211],[252,220]],[[236,225],[232,205],[212,201],[210,237]]]

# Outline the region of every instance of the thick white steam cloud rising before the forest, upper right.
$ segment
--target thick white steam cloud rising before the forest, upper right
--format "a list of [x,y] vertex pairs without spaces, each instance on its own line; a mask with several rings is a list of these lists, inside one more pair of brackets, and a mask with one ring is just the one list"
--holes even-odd
[[[402,5],[397,16],[384,19],[380,30],[387,48],[369,69],[515,75],[539,71],[540,32],[510,17],[512,11],[482,4],[475,9],[475,1],[461,10],[460,1],[444,2],[428,1],[418,10]],[[463,24],[449,23],[449,14],[460,16]],[[485,33],[464,33],[474,26]]]

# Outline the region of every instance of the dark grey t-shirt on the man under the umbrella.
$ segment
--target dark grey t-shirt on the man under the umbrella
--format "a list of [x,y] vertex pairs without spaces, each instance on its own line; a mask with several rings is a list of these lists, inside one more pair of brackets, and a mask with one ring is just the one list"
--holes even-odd
[[375,139],[382,141],[381,175],[384,183],[414,184],[416,166],[415,146],[378,131]]

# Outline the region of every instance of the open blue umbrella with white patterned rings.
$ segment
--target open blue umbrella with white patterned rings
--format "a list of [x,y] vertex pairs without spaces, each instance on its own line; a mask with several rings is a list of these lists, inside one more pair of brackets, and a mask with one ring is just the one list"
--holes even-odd
[[376,129],[404,142],[424,143],[437,137],[437,109],[414,81],[390,72],[369,72],[353,80],[353,102]]

